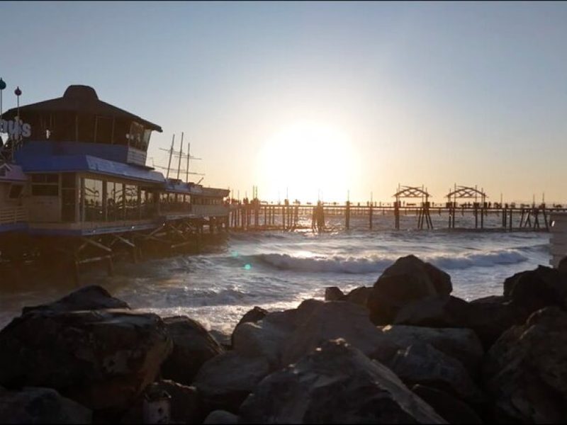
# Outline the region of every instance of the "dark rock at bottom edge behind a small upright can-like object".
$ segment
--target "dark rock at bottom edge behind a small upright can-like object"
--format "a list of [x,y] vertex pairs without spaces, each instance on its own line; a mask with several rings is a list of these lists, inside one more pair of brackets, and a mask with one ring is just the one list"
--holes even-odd
[[159,380],[146,387],[120,419],[121,424],[142,424],[143,407],[147,393],[165,392],[169,395],[169,418],[174,424],[196,424],[202,421],[201,403],[196,387],[188,387],[172,380]]

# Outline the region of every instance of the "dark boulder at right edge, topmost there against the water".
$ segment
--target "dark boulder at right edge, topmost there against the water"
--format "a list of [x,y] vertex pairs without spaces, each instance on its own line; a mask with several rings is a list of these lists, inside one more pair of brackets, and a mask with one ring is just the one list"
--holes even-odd
[[556,268],[538,266],[504,281],[504,296],[527,314],[544,307],[567,307],[567,274]]

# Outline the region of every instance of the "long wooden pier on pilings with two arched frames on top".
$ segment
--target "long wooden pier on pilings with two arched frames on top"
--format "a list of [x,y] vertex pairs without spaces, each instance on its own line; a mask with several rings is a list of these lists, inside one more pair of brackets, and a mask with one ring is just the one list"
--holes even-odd
[[[231,200],[228,228],[233,232],[247,230],[283,230],[313,229],[325,231],[327,219],[333,218],[344,229],[352,229],[354,219],[357,229],[376,229],[380,216],[389,217],[391,229],[401,229],[402,217],[415,217],[413,229],[451,229],[451,230],[504,230],[504,231],[541,231],[549,232],[551,212],[566,212],[561,205],[548,206],[545,203],[531,205],[515,203],[490,203],[488,196],[477,188],[456,186],[449,191],[445,203],[432,203],[431,195],[425,188],[400,186],[393,195],[393,202],[367,201],[344,204],[322,203],[268,203],[254,198],[252,200]],[[403,199],[418,200],[406,202]],[[460,202],[459,202],[460,201]],[[437,216],[432,220],[432,216]],[[468,217],[466,225],[459,225],[457,217]],[[439,217],[443,217],[440,219]],[[488,225],[488,217],[493,217],[498,225]],[[494,220],[494,217],[497,217]],[[339,220],[338,220],[339,219]],[[338,221],[337,221],[338,220]],[[381,223],[388,220],[381,220]],[[405,220],[406,224],[408,220]],[[434,226],[434,221],[437,223]],[[463,221],[463,220],[461,220]],[[444,223],[444,224],[441,224]]]

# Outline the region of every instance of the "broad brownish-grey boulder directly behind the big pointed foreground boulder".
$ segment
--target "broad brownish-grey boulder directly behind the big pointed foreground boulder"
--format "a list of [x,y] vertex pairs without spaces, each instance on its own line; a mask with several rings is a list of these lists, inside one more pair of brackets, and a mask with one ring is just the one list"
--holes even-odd
[[388,358],[398,349],[370,322],[365,307],[351,302],[329,301],[318,305],[289,335],[281,365],[296,362],[322,342],[337,338],[344,339],[371,358]]

